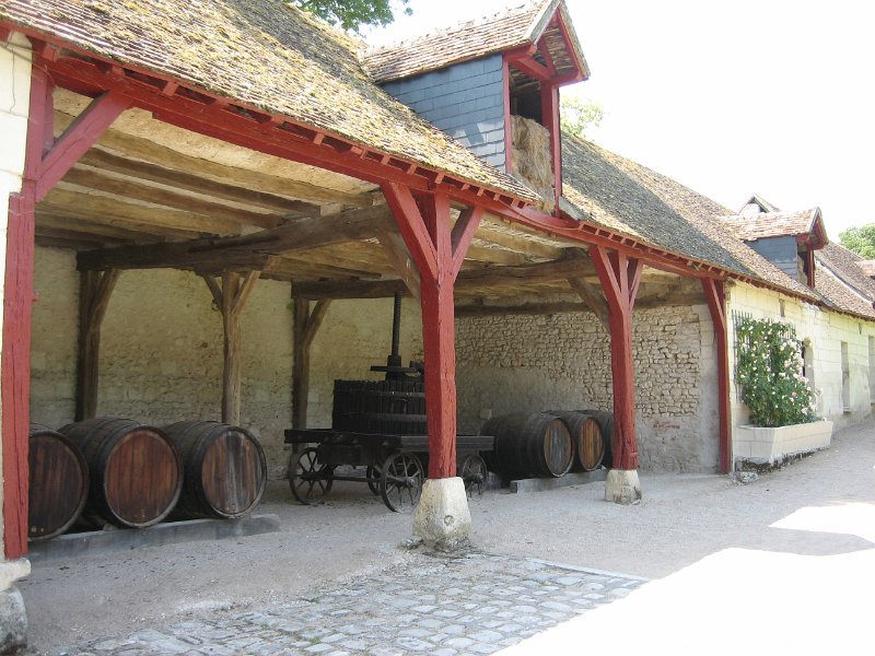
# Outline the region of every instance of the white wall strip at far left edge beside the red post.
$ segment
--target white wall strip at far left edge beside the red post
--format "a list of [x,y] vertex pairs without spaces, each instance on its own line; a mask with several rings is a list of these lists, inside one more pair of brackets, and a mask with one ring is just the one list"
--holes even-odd
[[[9,224],[9,197],[21,190],[24,173],[27,112],[31,94],[31,47],[27,39],[13,34],[0,47],[0,244],[7,243]],[[0,280],[5,277],[5,248],[0,248]],[[0,285],[0,304],[3,302]],[[2,426],[0,426],[2,430]],[[2,449],[0,449],[2,471]],[[0,485],[0,507],[2,507]],[[0,522],[0,543],[3,539]]]

